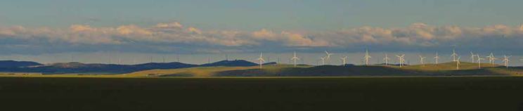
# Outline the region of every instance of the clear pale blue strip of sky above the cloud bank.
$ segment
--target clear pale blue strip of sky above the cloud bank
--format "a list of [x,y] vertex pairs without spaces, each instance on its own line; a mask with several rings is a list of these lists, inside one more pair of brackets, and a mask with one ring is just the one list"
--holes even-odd
[[2,25],[34,27],[154,25],[183,22],[202,29],[332,30],[370,25],[519,25],[519,0],[106,1],[3,0]]

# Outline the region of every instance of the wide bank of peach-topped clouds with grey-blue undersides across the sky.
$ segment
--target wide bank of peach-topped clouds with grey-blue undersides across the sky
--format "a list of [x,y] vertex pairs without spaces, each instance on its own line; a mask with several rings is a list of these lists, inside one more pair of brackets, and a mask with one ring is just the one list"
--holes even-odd
[[[323,32],[295,32],[292,30],[273,31],[262,29],[254,32],[237,30],[200,30],[184,27],[179,22],[158,23],[150,27],[122,25],[118,27],[93,27],[71,25],[68,29],[48,27],[27,28],[22,26],[0,27],[0,39],[65,42],[77,45],[122,45],[148,43],[157,46],[186,45],[199,51],[214,51],[216,48],[233,46],[265,46],[281,48],[294,47],[358,47],[358,46],[440,46],[449,42],[455,44],[482,44],[482,39],[496,39],[507,42],[523,40],[523,27],[491,25],[486,27],[432,26],[413,23],[408,27],[381,28],[356,27]],[[502,44],[509,45],[509,44]],[[203,50],[211,46],[213,49]],[[183,47],[183,46],[177,46]],[[228,49],[235,50],[235,49]]]

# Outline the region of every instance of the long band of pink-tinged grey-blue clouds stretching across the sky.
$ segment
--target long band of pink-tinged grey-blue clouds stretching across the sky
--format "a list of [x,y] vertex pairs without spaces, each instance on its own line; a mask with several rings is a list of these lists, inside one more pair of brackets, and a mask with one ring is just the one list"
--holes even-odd
[[92,27],[0,26],[0,51],[5,53],[60,53],[77,51],[130,51],[143,53],[224,53],[257,51],[356,51],[361,48],[403,51],[448,47],[476,50],[519,50],[523,26],[355,27],[331,31],[200,30],[179,22],[149,27],[122,25]]

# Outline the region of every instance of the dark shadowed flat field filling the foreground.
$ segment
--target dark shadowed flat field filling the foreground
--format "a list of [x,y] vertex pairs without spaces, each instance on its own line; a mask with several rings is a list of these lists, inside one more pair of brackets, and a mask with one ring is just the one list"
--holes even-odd
[[0,78],[2,110],[523,110],[523,77]]

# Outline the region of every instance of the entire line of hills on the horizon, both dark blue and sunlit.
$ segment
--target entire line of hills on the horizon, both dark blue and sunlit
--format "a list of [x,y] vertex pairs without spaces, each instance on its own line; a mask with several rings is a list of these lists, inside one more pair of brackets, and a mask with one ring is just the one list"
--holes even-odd
[[309,76],[436,76],[436,75],[521,75],[523,67],[503,67],[482,63],[456,62],[425,65],[288,65],[257,63],[246,60],[222,60],[216,63],[144,63],[138,65],[51,63],[0,61],[0,72],[37,72],[43,74],[115,74],[125,77],[309,77]]

